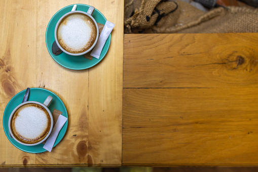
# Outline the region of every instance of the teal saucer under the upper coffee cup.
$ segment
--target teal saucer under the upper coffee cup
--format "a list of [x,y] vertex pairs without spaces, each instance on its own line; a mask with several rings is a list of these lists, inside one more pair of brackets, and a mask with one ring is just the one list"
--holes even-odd
[[[90,7],[85,4],[76,4],[76,5],[77,5],[76,10],[84,11],[84,12],[87,12]],[[70,12],[72,7],[73,5],[69,5],[67,7],[62,8],[51,18],[46,30],[46,45],[51,57],[60,65],[66,68],[69,68],[71,70],[85,70],[87,68],[90,68],[96,65],[104,58],[110,45],[111,35],[109,35],[108,39],[106,40],[106,43],[102,49],[99,59],[93,57],[92,60],[89,60],[82,55],[71,56],[71,55],[65,54],[64,52],[62,52],[59,55],[54,55],[52,53],[52,44],[55,41],[54,31],[55,31],[56,23],[65,13]],[[97,23],[105,24],[106,22],[106,18],[97,9],[94,10],[92,17],[94,17]]]

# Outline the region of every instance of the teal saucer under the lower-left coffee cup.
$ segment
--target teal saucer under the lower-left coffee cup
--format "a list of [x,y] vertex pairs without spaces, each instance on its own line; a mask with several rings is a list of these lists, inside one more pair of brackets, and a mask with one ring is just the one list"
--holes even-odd
[[[9,135],[9,128],[8,128],[9,117],[10,117],[12,111],[15,109],[15,107],[17,107],[19,104],[21,104],[23,96],[25,94],[25,91],[26,90],[19,92],[8,102],[5,112],[4,112],[4,116],[3,116],[4,130],[5,130],[7,138],[16,148],[18,148],[24,152],[29,152],[29,153],[45,152],[47,150],[43,149],[43,146],[44,146],[43,144],[39,144],[39,145],[35,145],[35,146],[25,146],[25,145],[22,145],[22,144],[19,144],[18,142],[16,142]],[[68,118],[67,111],[66,111],[66,108],[65,108],[62,100],[55,93],[53,93],[49,90],[46,90],[43,88],[30,88],[28,101],[39,101],[39,102],[43,103],[49,95],[51,95],[53,97],[53,100],[52,100],[50,106],[48,107],[49,110],[51,112],[53,112],[54,109],[57,109],[62,112],[63,116]],[[68,120],[65,122],[63,128],[59,132],[56,142],[54,144],[54,147],[63,139],[63,136],[67,129],[67,125],[68,125]]]

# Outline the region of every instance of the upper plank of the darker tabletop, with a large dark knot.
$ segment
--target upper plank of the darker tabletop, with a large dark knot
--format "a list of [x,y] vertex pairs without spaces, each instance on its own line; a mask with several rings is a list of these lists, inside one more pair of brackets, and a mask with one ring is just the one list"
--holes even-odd
[[125,35],[124,88],[256,86],[258,33]]

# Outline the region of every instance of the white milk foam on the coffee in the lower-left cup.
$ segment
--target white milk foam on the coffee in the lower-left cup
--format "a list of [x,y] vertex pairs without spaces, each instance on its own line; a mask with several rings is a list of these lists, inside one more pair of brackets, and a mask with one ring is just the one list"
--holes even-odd
[[43,110],[36,107],[22,109],[15,119],[15,129],[22,137],[36,139],[46,130],[48,117]]

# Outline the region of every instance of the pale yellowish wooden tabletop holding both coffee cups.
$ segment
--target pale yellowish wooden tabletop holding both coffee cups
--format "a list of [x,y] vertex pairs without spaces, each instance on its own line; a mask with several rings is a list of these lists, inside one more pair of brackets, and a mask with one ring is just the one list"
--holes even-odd
[[[56,63],[45,43],[51,17],[76,3],[94,6],[116,24],[105,58],[83,71],[68,70]],[[57,94],[69,120],[58,146],[51,153],[40,154],[15,148],[0,125],[2,166],[121,166],[123,2],[12,0],[1,1],[0,5],[0,123],[8,101],[27,87],[46,88]],[[102,78],[101,73],[107,69],[110,71]],[[116,101],[110,101],[114,98]]]

